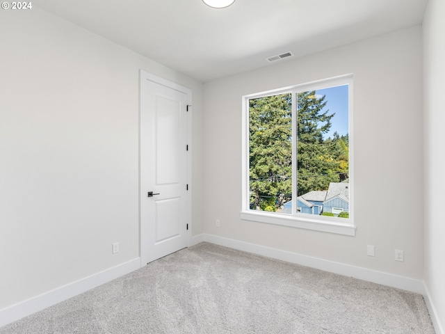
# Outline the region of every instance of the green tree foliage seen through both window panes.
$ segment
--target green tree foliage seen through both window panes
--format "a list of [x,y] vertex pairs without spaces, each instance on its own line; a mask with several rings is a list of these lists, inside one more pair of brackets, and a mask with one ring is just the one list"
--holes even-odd
[[[298,196],[348,178],[349,138],[337,133],[325,138],[335,114],[325,108],[325,96],[315,93],[297,95]],[[275,212],[291,200],[291,94],[250,100],[249,122],[250,207]]]

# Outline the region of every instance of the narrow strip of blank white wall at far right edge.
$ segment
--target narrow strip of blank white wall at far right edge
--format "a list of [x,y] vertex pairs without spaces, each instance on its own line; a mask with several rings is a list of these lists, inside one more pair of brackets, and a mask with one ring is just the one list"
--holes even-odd
[[425,105],[425,285],[438,321],[445,333],[445,2],[428,1],[423,20]]

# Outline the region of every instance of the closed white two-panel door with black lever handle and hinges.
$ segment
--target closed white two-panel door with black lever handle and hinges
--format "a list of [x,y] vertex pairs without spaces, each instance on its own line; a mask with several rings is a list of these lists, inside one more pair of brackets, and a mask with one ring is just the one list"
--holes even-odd
[[[156,77],[155,77],[156,78]],[[160,78],[158,78],[160,79]],[[187,246],[188,93],[141,72],[141,260]],[[183,89],[184,90],[184,89]],[[150,192],[150,193],[149,193]]]

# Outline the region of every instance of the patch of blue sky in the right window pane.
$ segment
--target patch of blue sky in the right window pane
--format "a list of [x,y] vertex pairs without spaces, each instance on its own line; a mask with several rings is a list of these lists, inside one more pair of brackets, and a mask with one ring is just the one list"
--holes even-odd
[[325,138],[332,138],[336,131],[340,136],[348,134],[348,85],[319,89],[316,95],[326,95],[325,109],[329,109],[329,115],[335,113],[331,118],[332,127]]

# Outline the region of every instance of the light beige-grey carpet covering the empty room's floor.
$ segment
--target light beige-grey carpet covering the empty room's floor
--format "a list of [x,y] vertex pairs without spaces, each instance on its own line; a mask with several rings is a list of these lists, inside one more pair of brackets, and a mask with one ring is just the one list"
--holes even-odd
[[6,333],[435,332],[419,294],[202,243],[0,328]]

